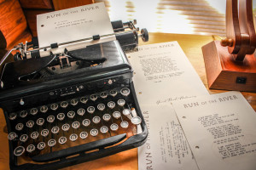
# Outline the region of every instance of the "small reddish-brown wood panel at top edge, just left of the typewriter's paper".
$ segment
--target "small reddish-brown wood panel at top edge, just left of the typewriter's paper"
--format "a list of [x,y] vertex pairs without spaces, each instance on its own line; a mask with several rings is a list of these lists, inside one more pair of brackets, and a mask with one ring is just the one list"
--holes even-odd
[[20,0],[22,8],[53,8],[51,0]]

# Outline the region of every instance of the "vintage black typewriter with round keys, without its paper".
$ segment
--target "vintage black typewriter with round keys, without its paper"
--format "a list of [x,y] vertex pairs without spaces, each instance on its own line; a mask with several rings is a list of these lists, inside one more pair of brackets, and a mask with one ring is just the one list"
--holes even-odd
[[59,169],[145,143],[124,51],[136,48],[138,37],[148,41],[148,33],[138,35],[131,21],[112,25],[117,40],[63,54],[40,57],[35,39],[15,48],[20,52],[3,66],[0,88],[10,169]]

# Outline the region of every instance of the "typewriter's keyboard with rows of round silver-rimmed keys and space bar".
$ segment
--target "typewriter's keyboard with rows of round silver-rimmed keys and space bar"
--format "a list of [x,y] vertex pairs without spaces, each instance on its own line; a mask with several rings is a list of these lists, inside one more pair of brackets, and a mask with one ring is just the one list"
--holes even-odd
[[130,95],[129,88],[113,88],[10,113],[14,155],[54,161],[137,134],[142,119]]

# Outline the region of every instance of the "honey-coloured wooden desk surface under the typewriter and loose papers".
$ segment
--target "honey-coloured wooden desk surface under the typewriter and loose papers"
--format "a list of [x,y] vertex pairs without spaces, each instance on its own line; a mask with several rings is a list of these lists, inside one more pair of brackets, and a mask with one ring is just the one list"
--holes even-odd
[[[189,61],[194,66],[195,71],[201,77],[202,82],[207,86],[207,76],[205,71],[204,59],[201,52],[201,47],[213,40],[210,36],[198,36],[198,35],[182,35],[182,34],[166,34],[166,33],[151,33],[149,34],[149,41],[143,44],[157,43],[157,42],[171,42],[177,41],[184,53],[189,58]],[[210,94],[216,94],[224,92],[222,90],[209,90]],[[252,105],[254,111],[256,111],[256,93],[242,93],[247,101]],[[9,148],[8,139],[5,127],[5,120],[3,111],[0,110],[0,170],[9,169]],[[137,169],[137,149],[127,150],[116,154],[114,156],[108,156],[96,161],[85,162],[73,167],[66,167],[63,170],[136,170]]]

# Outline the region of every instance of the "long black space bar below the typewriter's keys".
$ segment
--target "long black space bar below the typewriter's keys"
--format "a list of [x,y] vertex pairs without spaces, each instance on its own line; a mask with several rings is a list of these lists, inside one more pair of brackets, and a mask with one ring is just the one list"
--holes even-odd
[[50,152],[48,154],[33,156],[32,161],[38,161],[38,162],[55,161],[63,157],[79,154],[80,152],[84,152],[88,150],[96,150],[96,149],[104,148],[113,144],[117,144],[125,138],[126,138],[126,133],[123,133],[123,134],[109,137],[107,139],[100,139],[87,144],[73,146],[64,150],[57,150],[57,151]]

